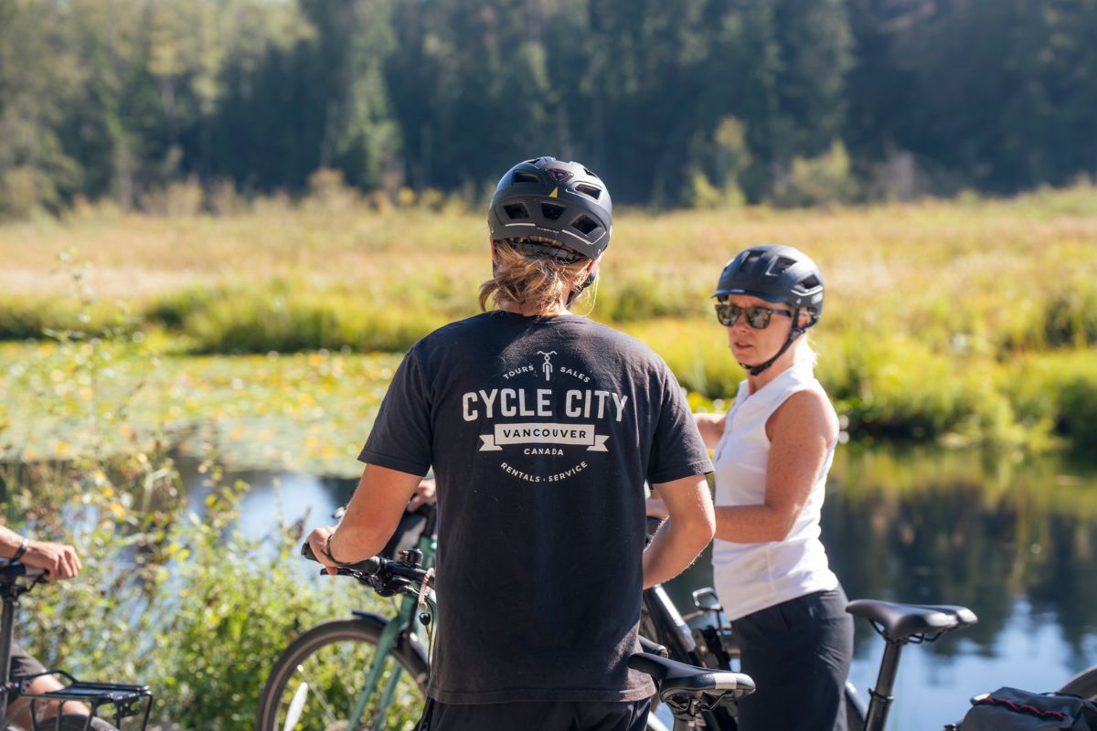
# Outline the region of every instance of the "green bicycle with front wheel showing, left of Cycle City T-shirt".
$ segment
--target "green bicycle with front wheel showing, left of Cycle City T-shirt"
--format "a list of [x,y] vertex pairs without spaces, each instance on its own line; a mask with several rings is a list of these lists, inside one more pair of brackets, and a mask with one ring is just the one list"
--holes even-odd
[[349,619],[321,623],[291,642],[259,697],[256,731],[411,731],[418,723],[430,673],[419,632],[429,628],[434,612],[430,567],[438,516],[432,505],[420,510],[422,532],[399,561],[375,557],[338,573],[381,596],[399,595],[396,614],[386,618],[355,610]]

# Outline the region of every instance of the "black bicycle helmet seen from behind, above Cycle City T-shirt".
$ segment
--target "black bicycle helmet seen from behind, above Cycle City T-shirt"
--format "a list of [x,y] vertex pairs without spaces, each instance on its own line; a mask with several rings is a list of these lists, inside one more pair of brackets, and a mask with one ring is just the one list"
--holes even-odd
[[545,237],[597,259],[610,243],[613,204],[601,179],[580,163],[541,157],[507,171],[487,224],[495,240]]

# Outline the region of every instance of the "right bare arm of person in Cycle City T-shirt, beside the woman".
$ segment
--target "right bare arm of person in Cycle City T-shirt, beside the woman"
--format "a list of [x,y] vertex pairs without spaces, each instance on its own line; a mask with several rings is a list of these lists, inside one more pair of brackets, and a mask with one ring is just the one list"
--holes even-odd
[[715,528],[709,483],[701,475],[657,486],[669,517],[644,550],[644,589],[674,579],[697,559]]

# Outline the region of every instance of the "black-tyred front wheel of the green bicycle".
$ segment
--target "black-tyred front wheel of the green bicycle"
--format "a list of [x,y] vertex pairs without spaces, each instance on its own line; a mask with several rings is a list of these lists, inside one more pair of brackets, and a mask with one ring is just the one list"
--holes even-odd
[[393,648],[375,686],[365,688],[384,627],[369,617],[338,619],[294,640],[267,678],[256,731],[412,731],[428,675],[419,653]]

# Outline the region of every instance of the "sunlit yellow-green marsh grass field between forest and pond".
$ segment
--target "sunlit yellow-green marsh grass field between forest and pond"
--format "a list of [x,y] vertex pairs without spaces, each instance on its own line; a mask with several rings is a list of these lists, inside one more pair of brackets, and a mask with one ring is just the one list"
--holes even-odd
[[[478,214],[376,209],[349,194],[259,201],[225,218],[79,209],[0,227],[0,336],[142,332],[168,370],[238,372],[251,388],[249,359],[190,358],[400,353],[477,311],[486,237]],[[621,210],[591,317],[649,343],[699,407],[727,397],[743,374],[709,294],[726,260],[757,242],[791,243],[822,266],[818,373],[853,438],[1093,444],[1097,189],[826,210]],[[0,354],[0,390],[12,364],[33,369],[36,347]],[[147,364],[132,364],[135,379]],[[143,398],[171,400],[148,384]],[[0,424],[24,421],[11,397],[0,407]],[[33,448],[50,450],[48,441]]]

